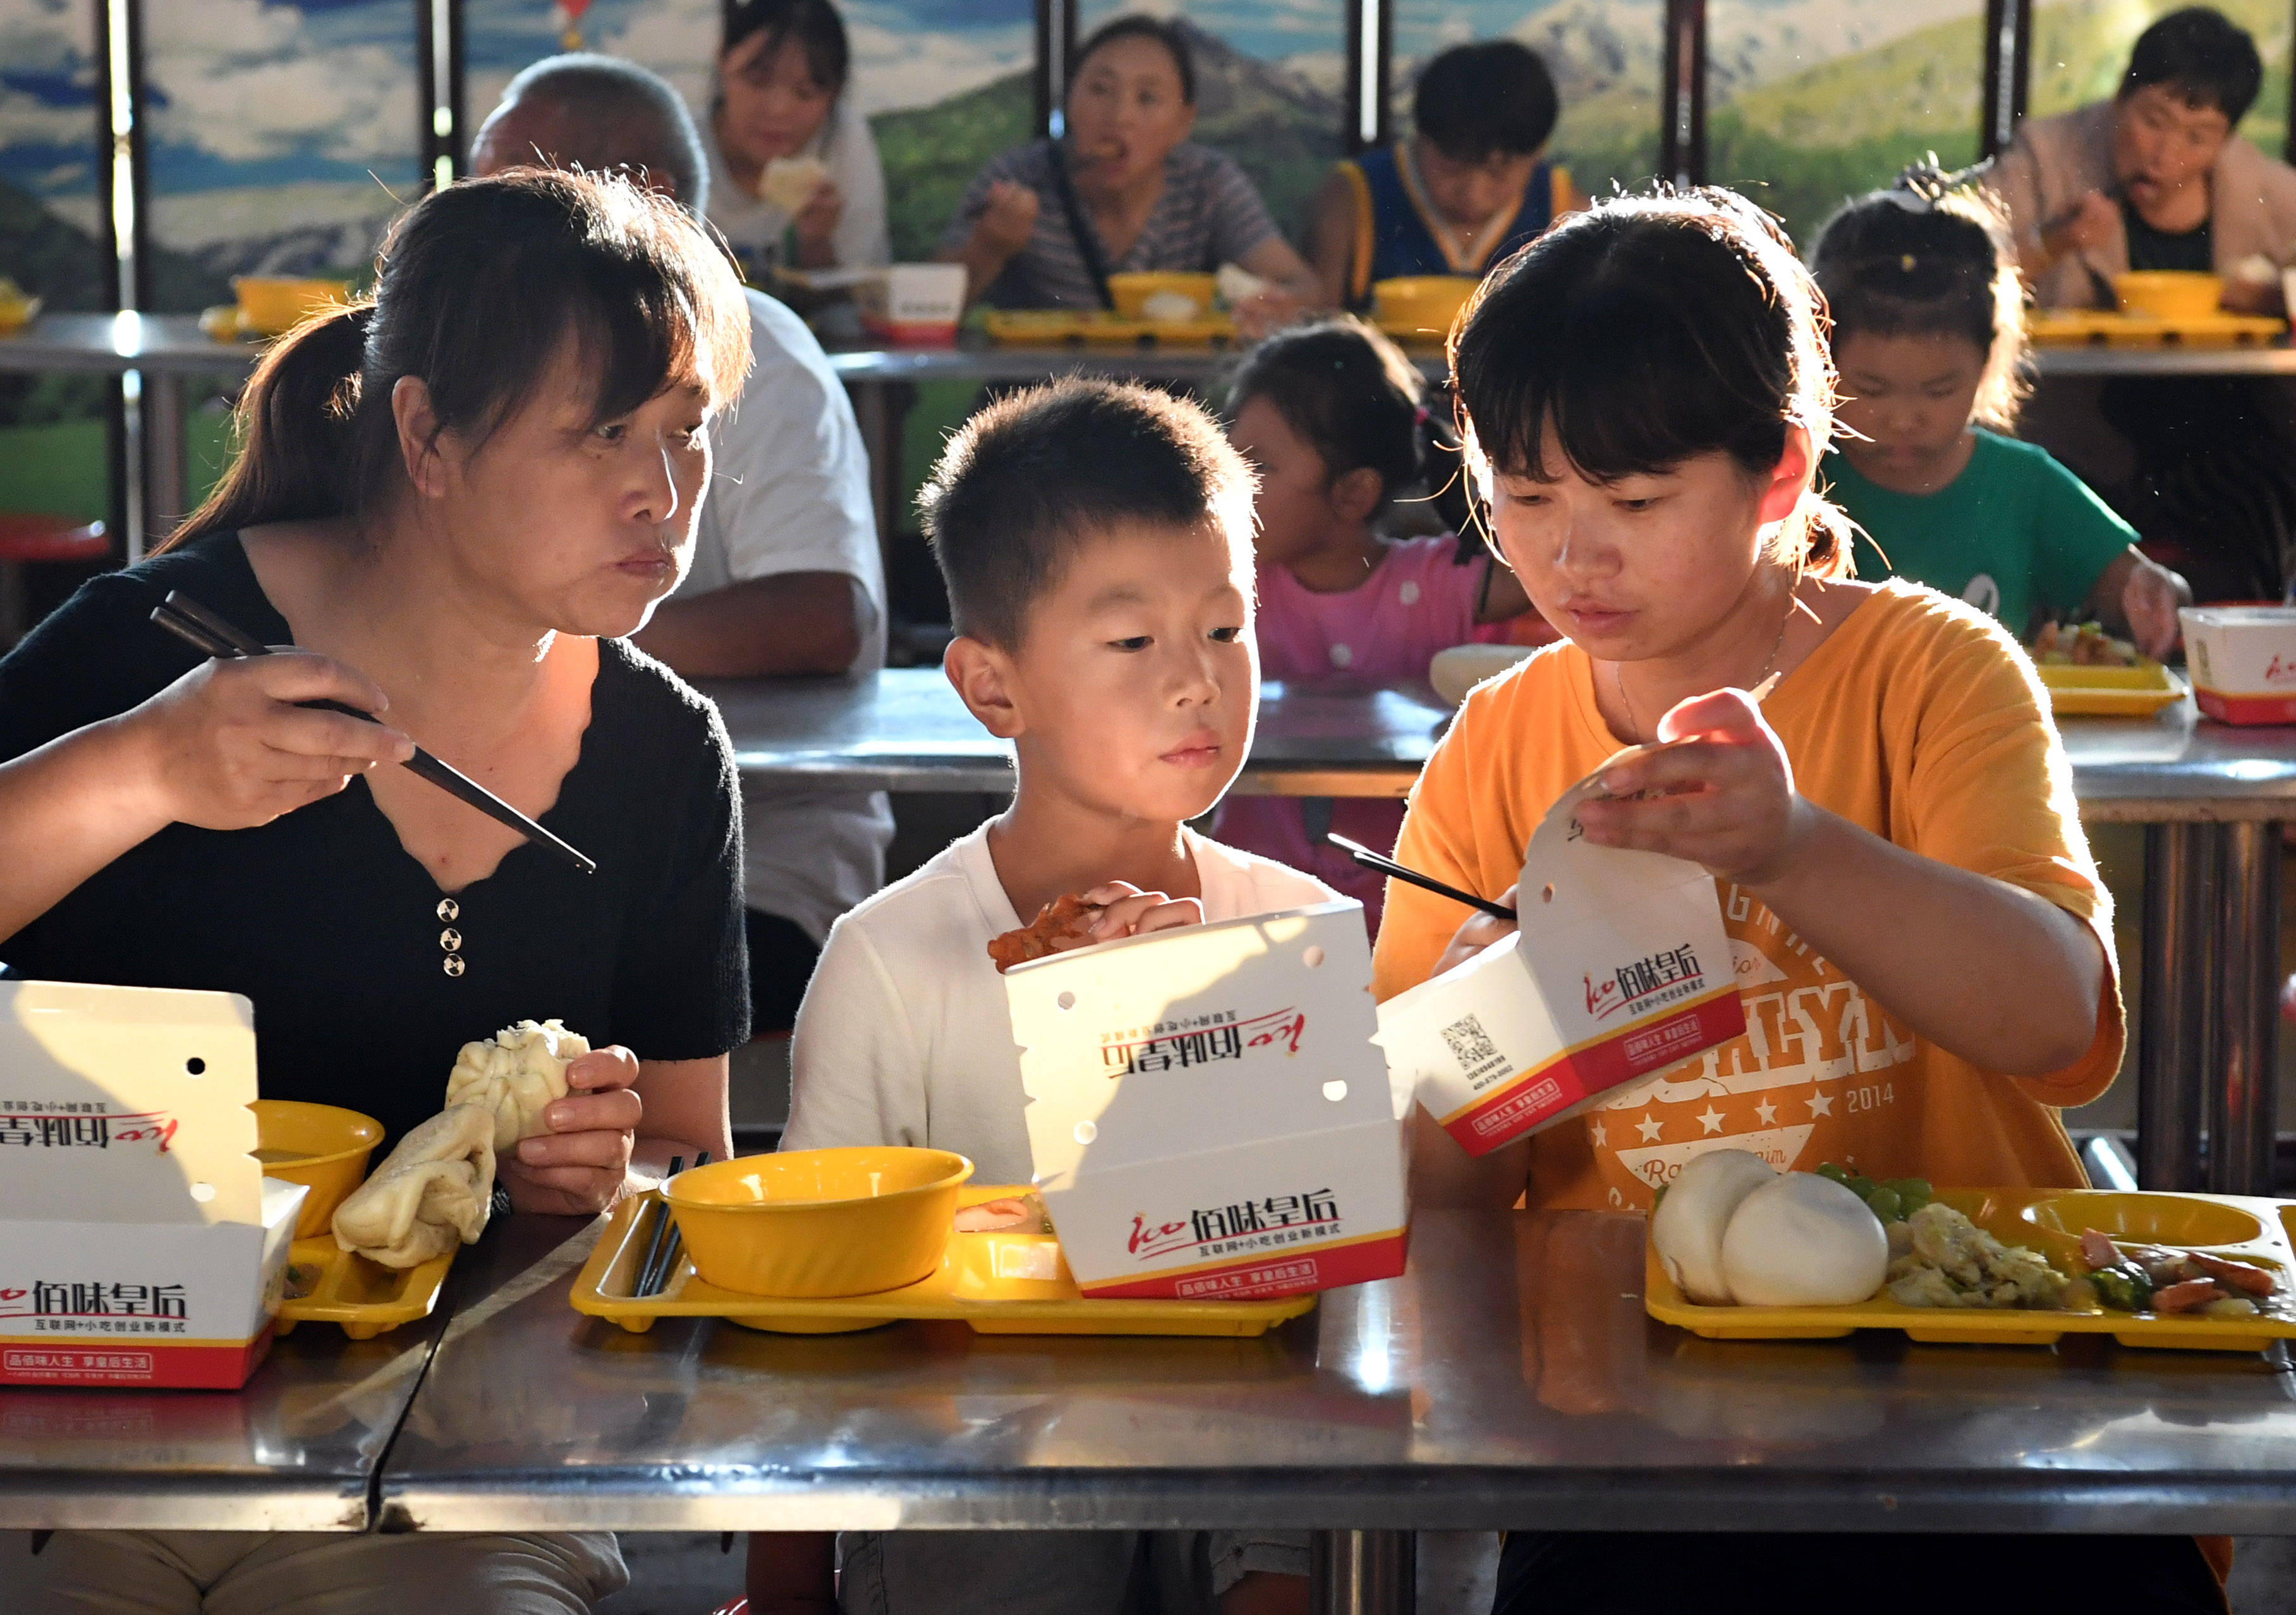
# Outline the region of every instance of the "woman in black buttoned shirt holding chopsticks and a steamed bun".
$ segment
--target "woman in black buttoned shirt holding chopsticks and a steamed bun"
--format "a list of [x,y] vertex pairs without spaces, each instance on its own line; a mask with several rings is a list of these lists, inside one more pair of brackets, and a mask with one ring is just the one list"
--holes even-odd
[[[597,1211],[634,1163],[726,1154],[748,1032],[732,750],[625,640],[691,560],[705,427],[746,367],[732,268],[638,186],[521,170],[416,206],[374,301],[257,367],[243,450],[165,553],[0,661],[0,959],[243,993],[266,1097],[393,1138],[464,1041],[558,1016],[599,1053],[501,1163],[519,1209]],[[149,622],[168,590],[296,649],[200,661]],[[377,720],[296,704],[317,697]],[[397,769],[413,743],[597,874]],[[567,1608],[613,1590],[611,1537],[551,1542],[588,1565]],[[328,1608],[494,1606],[498,1560],[445,1562],[411,1548],[409,1583]]]

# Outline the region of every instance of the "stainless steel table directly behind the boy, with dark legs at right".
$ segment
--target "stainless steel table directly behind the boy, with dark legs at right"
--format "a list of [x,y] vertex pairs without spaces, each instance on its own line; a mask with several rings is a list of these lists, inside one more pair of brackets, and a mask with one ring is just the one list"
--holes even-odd
[[[937,668],[866,681],[709,686],[744,773],[886,791],[1008,791],[990,739]],[[1449,720],[1433,691],[1267,684],[1235,789],[1405,796]],[[2138,1177],[2149,1188],[2271,1188],[2280,1069],[2280,821],[2296,817],[2296,730],[2069,718],[2092,824],[2142,824],[2144,959]],[[2211,1140],[2204,1149],[2202,1138]]]

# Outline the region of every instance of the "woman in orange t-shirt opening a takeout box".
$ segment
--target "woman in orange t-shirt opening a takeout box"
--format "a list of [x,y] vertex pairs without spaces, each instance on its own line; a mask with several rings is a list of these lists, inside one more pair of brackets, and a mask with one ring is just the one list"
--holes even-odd
[[[1846,521],[1812,491],[1835,404],[1821,312],[1759,209],[1690,190],[1554,225],[1453,335],[1492,537],[1568,638],[1467,697],[1396,856],[1511,904],[1531,830],[1600,769],[1612,798],[1580,810],[1589,840],[1713,872],[1747,1030],[1476,1161],[1419,1113],[1421,1204],[1649,1207],[1715,1147],[2082,1181],[2057,1108],[2119,1067],[2110,899],[2009,635],[1919,585],[1851,578]],[[1460,918],[1391,885],[1380,998],[1506,934]],[[1497,1608],[1655,1608],[1731,1574],[1800,1608],[1878,1553],[1637,1544],[1513,1532]],[[2119,1546],[2112,1608],[2223,1608],[2190,1539]],[[1984,1539],[1954,1551],[1984,1560],[1979,1585],[2030,1583]]]

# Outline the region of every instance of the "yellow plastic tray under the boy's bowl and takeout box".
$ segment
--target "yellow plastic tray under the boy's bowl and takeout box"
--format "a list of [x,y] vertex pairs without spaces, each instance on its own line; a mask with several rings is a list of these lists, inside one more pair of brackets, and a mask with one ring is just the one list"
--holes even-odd
[[[957,1204],[1017,1200],[1024,1193],[1029,1191],[974,1184],[957,1195]],[[833,1335],[909,1317],[964,1319],[980,1335],[1265,1335],[1316,1305],[1316,1296],[1086,1301],[1061,1259],[1061,1241],[1026,1230],[953,1234],[939,1273],[872,1296],[744,1296],[705,1285],[687,1259],[680,1259],[659,1296],[631,1296],[654,1227],[654,1218],[641,1220],[638,1214],[652,1204],[659,1204],[659,1195],[634,1195],[615,1207],[613,1223],[574,1278],[576,1312],[608,1317],[636,1335],[659,1317],[721,1317],[781,1335]]]

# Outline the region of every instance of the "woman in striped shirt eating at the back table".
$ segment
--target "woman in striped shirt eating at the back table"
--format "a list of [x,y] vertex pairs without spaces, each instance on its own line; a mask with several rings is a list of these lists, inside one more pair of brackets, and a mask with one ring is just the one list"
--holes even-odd
[[1077,53],[1068,133],[994,158],[974,179],[939,257],[967,268],[967,303],[1114,307],[1109,275],[1217,271],[1265,287],[1235,305],[1249,333],[1313,307],[1313,271],[1233,158],[1189,142],[1196,62],[1153,16],[1118,16]]

